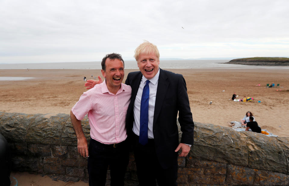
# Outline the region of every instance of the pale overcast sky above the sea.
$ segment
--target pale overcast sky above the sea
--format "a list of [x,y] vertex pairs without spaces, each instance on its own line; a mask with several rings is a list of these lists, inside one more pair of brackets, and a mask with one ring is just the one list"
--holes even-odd
[[[288,57],[288,0],[0,0],[0,63]],[[182,28],[184,27],[184,29]]]

